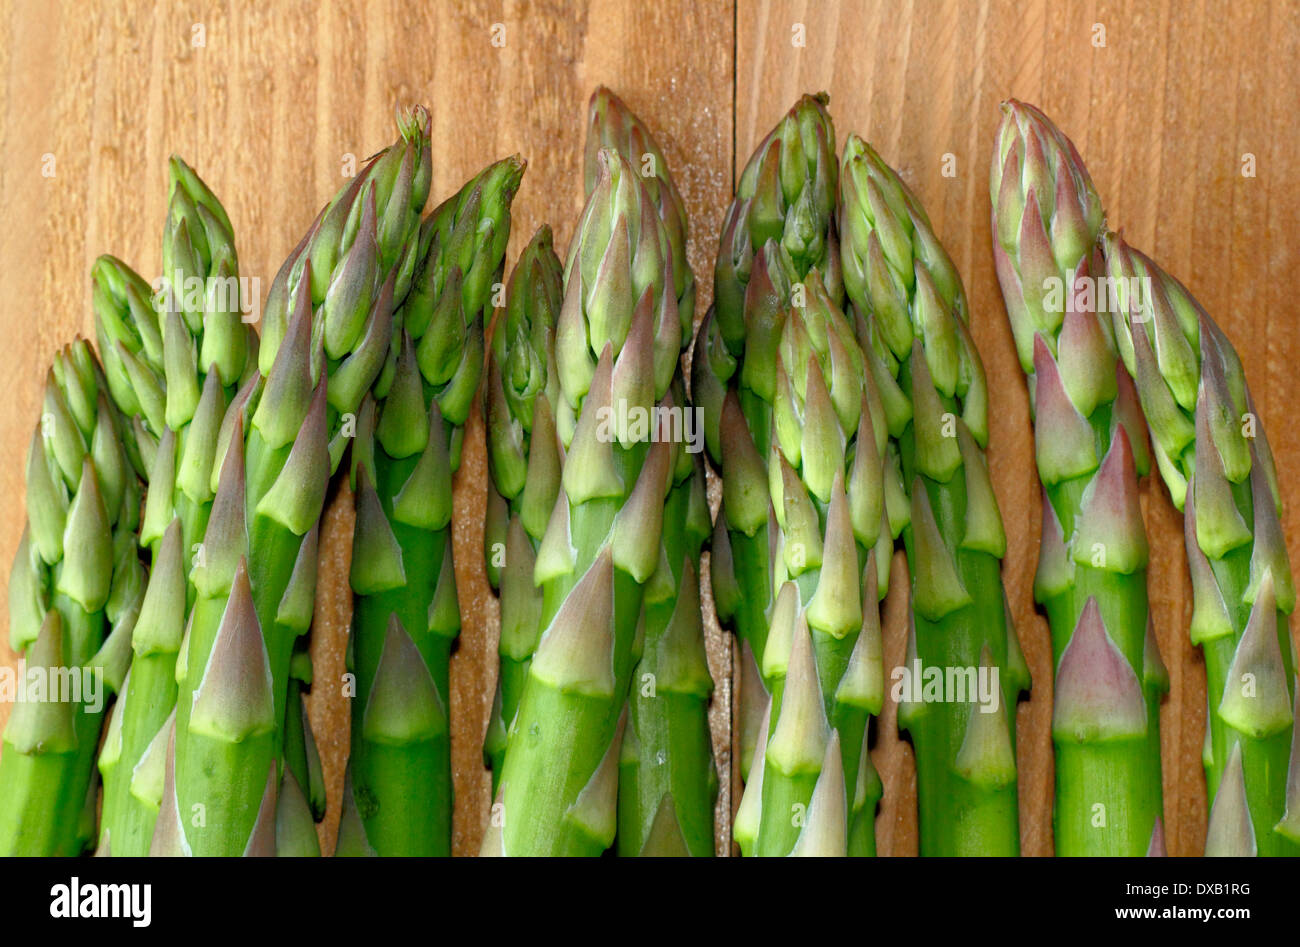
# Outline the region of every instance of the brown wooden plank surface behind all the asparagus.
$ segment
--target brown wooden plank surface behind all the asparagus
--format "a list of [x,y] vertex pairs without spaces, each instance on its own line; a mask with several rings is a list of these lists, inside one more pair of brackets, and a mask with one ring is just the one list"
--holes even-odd
[[[842,143],[868,138],[915,189],[972,304],[991,381],[991,463],[1009,554],[1004,579],[1035,678],[1020,708],[1023,849],[1052,851],[1052,675],[1032,604],[1039,498],[1024,385],[993,276],[988,156],[1008,96],[1043,107],[1078,143],[1113,225],[1183,278],[1236,343],[1282,475],[1300,562],[1300,438],[1287,412],[1300,360],[1300,10],[1295,3],[976,3],[974,0],[655,0],[654,3],[86,3],[0,0],[0,559],[22,531],[22,454],[56,346],[91,332],[88,271],[114,252],[159,267],[166,156],[188,159],[225,203],[244,274],[265,289],[346,155],[393,138],[398,103],[433,114],[434,200],[481,165],[529,160],[515,202],[512,263],[549,221],[567,245],[581,204],[586,100],[619,91],[663,146],[690,212],[692,252],[711,295],[716,230],[734,173],[803,91],[831,92]],[[494,23],[504,47],[491,44]],[[202,36],[202,44],[195,46]],[[798,40],[802,39],[802,46]],[[945,155],[956,176],[945,177]],[[1254,176],[1243,176],[1253,155]],[[55,173],[44,177],[53,156]],[[477,851],[488,812],[478,743],[491,701],[495,604],[481,568],[482,424],[456,481],[464,632],[452,667],[458,853]],[[1179,519],[1144,487],[1150,598],[1173,689],[1161,713],[1171,853],[1205,830],[1204,670],[1187,641]],[[335,831],[346,706],[350,502],[329,511],[311,714]],[[904,588],[896,558],[896,589]],[[902,661],[904,596],[888,602],[889,666]],[[0,610],[0,614],[6,614]],[[708,617],[727,753],[728,640]],[[8,640],[6,636],[3,637]],[[4,644],[0,661],[13,662]],[[8,708],[0,706],[0,722]],[[880,851],[916,851],[910,748],[887,706],[876,765]],[[725,795],[722,808],[729,808]],[[724,839],[720,839],[720,844]],[[329,848],[326,848],[329,851]]]

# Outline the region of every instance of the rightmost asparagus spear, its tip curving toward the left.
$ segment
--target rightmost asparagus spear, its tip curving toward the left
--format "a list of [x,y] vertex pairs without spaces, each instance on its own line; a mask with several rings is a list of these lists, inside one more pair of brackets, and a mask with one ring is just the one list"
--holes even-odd
[[[1273,451],[1236,350],[1191,293],[1123,238],[1102,242],[1114,328],[1157,466],[1184,511],[1192,643],[1205,653],[1206,855],[1300,855],[1295,583]],[[1288,775],[1290,774],[1290,775]]]

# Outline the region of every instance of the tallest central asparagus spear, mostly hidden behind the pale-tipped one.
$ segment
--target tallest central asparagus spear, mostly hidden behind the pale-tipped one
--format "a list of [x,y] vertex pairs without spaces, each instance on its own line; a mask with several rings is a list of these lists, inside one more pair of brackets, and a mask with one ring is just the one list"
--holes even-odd
[[[696,277],[686,260],[686,211],[668,164],[650,130],[608,88],[595,90],[588,113],[588,193],[598,176],[602,147],[614,148],[640,168],[668,235],[686,345],[694,328]],[[685,406],[680,367],[672,384],[673,402]],[[644,641],[628,699],[619,761],[619,855],[714,853],[718,774],[708,731],[712,678],[698,584],[699,554],[708,532],[702,458],[680,451],[664,503],[659,565],[646,585]]]

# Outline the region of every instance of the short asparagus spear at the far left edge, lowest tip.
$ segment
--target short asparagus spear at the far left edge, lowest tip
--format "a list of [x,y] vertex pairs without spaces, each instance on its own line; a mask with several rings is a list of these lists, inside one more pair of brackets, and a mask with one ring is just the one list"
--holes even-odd
[[[105,688],[121,687],[144,588],[130,437],[90,345],[65,346],[27,450],[27,526],[9,575],[25,700],[0,754],[3,855],[78,855],[95,834]],[[44,686],[31,689],[30,678]]]

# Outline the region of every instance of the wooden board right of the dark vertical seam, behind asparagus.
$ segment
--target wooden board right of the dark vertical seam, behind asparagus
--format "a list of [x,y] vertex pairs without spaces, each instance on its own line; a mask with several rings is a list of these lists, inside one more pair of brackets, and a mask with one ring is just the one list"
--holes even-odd
[[[802,48],[792,42],[800,23]],[[1295,62],[1297,49],[1294,3],[738,0],[737,164],[801,92],[827,90],[840,143],[857,131],[898,168],[966,282],[989,379],[989,462],[1009,542],[1004,583],[1035,682],[1018,717],[1026,855],[1052,852],[1052,674],[1032,596],[1040,514],[1028,402],[989,246],[998,101],[1032,101],[1074,138],[1112,226],[1182,278],[1235,342],[1277,454],[1291,558],[1300,561],[1300,438],[1287,415],[1300,354],[1291,291],[1300,127],[1290,117],[1300,72],[1279,65]],[[1242,174],[1247,153],[1256,177]],[[954,177],[942,174],[945,155],[956,159]],[[1144,487],[1144,513],[1152,614],[1171,676],[1161,710],[1166,840],[1171,855],[1199,855],[1205,674],[1187,637],[1182,520],[1157,483]],[[904,609],[890,601],[888,618],[885,661],[897,663]],[[887,708],[874,751],[885,783],[876,831],[881,852],[909,855],[915,773],[893,719]]]

